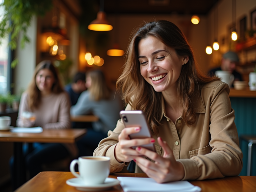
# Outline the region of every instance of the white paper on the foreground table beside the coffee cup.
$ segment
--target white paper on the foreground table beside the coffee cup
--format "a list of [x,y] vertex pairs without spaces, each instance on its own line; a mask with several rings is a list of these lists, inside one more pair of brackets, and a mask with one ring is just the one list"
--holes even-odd
[[152,178],[117,177],[124,192],[199,192],[201,188],[188,181],[157,183]]

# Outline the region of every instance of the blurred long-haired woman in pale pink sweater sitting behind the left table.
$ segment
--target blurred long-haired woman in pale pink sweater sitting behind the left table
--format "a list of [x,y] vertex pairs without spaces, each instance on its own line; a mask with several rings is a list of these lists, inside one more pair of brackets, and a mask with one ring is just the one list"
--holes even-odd
[[[22,94],[17,119],[18,127],[43,129],[70,128],[70,101],[63,90],[51,61],[40,62],[27,91]],[[31,115],[32,114],[32,115]],[[41,165],[76,156],[76,147],[59,143],[33,143],[34,150],[25,156],[30,178],[41,172]],[[26,151],[26,149],[24,149]]]

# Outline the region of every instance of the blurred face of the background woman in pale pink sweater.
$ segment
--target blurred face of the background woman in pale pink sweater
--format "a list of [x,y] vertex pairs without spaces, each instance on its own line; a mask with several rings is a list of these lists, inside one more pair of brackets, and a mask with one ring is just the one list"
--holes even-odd
[[36,86],[41,92],[51,92],[55,79],[49,69],[41,69],[36,75]]

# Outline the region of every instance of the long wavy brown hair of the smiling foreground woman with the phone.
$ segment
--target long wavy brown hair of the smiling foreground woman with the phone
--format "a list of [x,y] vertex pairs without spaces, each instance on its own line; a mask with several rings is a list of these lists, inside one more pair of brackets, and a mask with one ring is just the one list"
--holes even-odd
[[192,48],[175,24],[167,20],[153,21],[132,33],[125,55],[126,62],[116,82],[116,88],[122,92],[125,103],[131,104],[134,110],[142,110],[145,113],[152,133],[157,134],[161,125],[162,93],[156,92],[142,77],[138,61],[138,43],[149,36],[154,36],[166,46],[175,49],[179,57],[189,57],[188,63],[182,66],[177,80],[177,98],[183,106],[183,120],[188,126],[192,126],[196,121],[196,115],[191,98],[199,93],[200,85],[219,78],[208,77],[200,72]]

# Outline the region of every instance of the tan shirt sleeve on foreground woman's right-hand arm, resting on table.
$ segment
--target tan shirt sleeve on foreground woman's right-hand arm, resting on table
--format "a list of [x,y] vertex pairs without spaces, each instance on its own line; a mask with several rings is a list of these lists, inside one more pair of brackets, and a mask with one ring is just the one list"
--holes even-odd
[[206,105],[210,105],[209,134],[211,153],[194,156],[190,159],[178,159],[185,169],[183,180],[202,180],[236,176],[242,169],[242,151],[236,125],[234,110],[228,96],[229,87],[220,83]]

